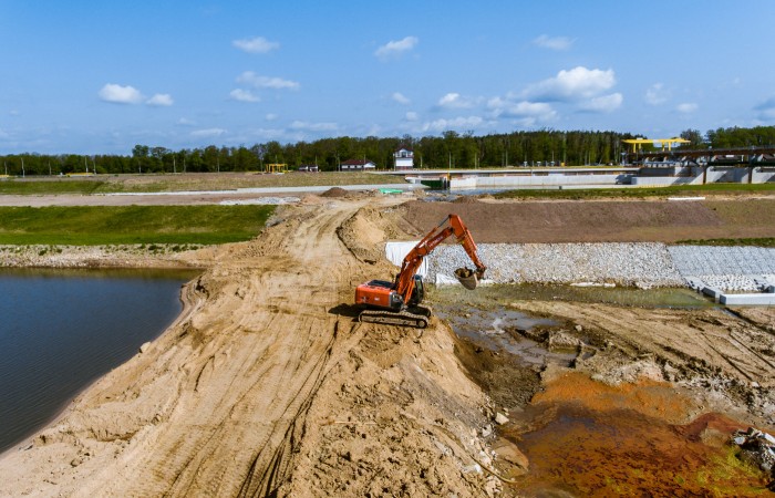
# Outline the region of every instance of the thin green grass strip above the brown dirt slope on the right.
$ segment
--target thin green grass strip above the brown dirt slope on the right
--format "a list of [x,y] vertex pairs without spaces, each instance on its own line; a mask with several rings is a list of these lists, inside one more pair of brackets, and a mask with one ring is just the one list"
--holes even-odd
[[665,198],[680,196],[744,196],[752,194],[775,196],[775,184],[709,184],[642,188],[507,190],[495,194],[495,197],[499,199],[637,199],[645,197]]

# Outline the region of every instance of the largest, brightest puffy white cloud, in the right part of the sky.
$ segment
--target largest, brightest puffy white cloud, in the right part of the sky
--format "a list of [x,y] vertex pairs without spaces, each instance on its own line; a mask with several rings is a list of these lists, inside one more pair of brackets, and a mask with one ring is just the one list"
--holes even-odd
[[525,93],[539,102],[572,102],[598,96],[616,83],[613,70],[577,66],[528,86]]

